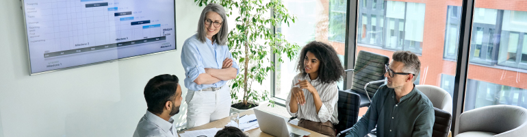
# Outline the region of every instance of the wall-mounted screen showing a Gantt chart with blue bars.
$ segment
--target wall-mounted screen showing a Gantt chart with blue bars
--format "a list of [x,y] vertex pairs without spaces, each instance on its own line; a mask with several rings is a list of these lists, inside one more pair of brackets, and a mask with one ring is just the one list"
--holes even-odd
[[173,0],[25,0],[31,73],[176,49]]

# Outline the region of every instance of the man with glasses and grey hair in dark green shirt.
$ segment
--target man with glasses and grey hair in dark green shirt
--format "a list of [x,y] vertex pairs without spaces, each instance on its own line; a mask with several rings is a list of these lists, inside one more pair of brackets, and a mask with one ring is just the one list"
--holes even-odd
[[387,84],[380,86],[372,103],[346,137],[366,136],[377,128],[377,136],[432,136],[435,116],[432,102],[415,88],[421,62],[411,51],[396,51],[385,65]]

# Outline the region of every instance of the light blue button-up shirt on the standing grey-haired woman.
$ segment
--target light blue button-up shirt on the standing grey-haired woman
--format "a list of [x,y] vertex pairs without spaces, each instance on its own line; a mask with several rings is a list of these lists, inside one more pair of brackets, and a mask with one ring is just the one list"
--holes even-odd
[[[197,35],[194,34],[194,36],[185,40],[181,48],[181,64],[183,64],[183,69],[185,69],[185,87],[197,91],[204,88],[224,86],[227,84],[227,81],[224,80],[214,84],[201,85],[194,82],[199,74],[205,73],[205,68],[222,69],[223,60],[225,58],[233,58],[227,45],[218,45],[217,42],[214,42],[213,45],[208,38],[203,43],[198,39]],[[238,66],[234,59],[232,67],[237,69],[236,75],[240,73],[240,66]]]

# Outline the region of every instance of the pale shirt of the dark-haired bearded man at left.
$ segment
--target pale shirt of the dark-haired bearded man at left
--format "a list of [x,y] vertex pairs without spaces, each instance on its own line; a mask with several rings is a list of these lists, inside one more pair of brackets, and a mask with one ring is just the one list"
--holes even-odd
[[177,137],[174,119],[165,121],[152,112],[146,111],[133,132],[133,137]]

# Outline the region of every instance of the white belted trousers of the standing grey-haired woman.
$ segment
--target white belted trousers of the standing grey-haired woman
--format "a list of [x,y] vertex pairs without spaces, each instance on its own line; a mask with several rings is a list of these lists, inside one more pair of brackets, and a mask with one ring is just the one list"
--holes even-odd
[[216,91],[188,90],[186,101],[187,127],[197,127],[223,119],[231,111],[231,87],[223,86]]

